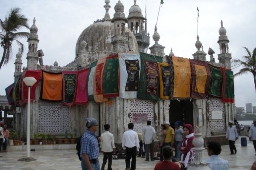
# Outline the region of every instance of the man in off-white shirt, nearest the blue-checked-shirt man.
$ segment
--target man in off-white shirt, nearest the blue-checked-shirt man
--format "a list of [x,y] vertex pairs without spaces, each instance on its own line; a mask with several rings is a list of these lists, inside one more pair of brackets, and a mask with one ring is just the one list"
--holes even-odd
[[104,125],[104,129],[106,130],[104,133],[101,134],[101,143],[100,148],[103,152],[103,162],[102,162],[102,168],[101,170],[104,170],[105,164],[108,160],[108,170],[112,170],[112,153],[116,152],[116,147],[114,143],[114,136],[112,133],[109,132],[110,125],[106,124]]

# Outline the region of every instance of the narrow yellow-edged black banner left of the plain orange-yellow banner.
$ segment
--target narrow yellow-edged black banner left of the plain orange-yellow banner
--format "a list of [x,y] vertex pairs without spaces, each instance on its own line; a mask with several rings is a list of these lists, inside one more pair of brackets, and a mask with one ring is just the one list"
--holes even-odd
[[160,98],[170,99],[170,79],[171,72],[168,63],[158,63],[159,68],[159,82],[160,82]]

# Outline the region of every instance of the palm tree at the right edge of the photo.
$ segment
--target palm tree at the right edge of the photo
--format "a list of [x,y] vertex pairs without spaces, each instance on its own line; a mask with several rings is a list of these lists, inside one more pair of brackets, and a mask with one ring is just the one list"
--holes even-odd
[[256,48],[254,48],[253,54],[251,54],[248,48],[244,47],[244,49],[247,51],[248,54],[247,56],[243,56],[244,61],[241,61],[240,59],[233,59],[232,61],[235,65],[243,66],[243,68],[238,73],[234,74],[234,76],[236,77],[248,72],[253,74],[254,86],[256,91]]

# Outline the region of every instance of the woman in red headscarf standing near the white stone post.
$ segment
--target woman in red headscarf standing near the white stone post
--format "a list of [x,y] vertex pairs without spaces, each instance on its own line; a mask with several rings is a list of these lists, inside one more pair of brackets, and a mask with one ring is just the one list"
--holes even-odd
[[191,148],[194,147],[192,144],[194,136],[194,128],[190,124],[185,124],[183,126],[185,139],[183,140],[182,144],[180,145],[181,151],[181,161],[184,162],[185,167],[189,167],[189,163],[195,159],[195,151]]

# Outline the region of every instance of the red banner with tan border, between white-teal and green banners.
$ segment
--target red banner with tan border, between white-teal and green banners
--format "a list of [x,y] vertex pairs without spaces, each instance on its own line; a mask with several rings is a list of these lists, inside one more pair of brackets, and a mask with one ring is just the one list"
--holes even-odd
[[107,60],[107,57],[102,57],[98,59],[94,77],[93,77],[93,97],[95,102],[106,102],[108,101],[107,98],[103,97],[103,88],[102,88],[102,78],[103,78],[103,72],[105,68],[105,62]]

